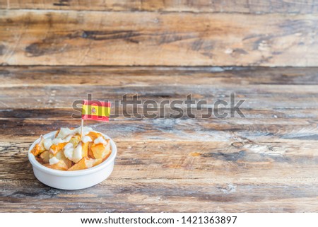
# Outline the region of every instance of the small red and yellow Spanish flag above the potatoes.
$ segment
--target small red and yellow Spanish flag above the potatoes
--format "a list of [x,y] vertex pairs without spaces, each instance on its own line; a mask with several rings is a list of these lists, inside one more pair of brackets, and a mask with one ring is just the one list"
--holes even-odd
[[83,100],[82,119],[108,122],[110,120],[110,103]]

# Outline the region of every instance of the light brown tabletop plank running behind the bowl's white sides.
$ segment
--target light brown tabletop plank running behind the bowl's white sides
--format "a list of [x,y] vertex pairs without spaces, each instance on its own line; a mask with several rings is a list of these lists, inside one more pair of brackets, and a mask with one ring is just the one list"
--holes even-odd
[[[1,179],[34,179],[30,142],[1,141]],[[117,141],[112,179],[225,179],[275,185],[317,179],[317,141]],[[300,148],[301,151],[300,151]],[[12,158],[14,157],[14,158]],[[6,171],[7,170],[7,171]],[[8,171],[9,170],[9,171]],[[281,172],[281,173],[279,173]],[[19,175],[20,173],[20,175]],[[130,174],[129,174],[130,173]],[[288,176],[293,180],[288,182]],[[259,178],[258,180],[255,180]],[[317,193],[317,192],[316,192]]]

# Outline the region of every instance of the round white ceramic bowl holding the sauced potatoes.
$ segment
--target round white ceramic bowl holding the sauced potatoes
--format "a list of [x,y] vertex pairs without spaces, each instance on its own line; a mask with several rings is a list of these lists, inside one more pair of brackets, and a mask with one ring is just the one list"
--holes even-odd
[[[50,132],[45,134],[44,137],[45,139],[54,139],[54,135],[56,133],[57,131]],[[102,136],[110,139],[110,137],[105,134],[102,134]],[[40,138],[34,141],[30,146],[28,153],[29,161],[33,165],[33,173],[35,177],[37,177],[37,180],[40,180],[40,182],[50,187],[55,187],[62,190],[80,190],[86,187],[91,187],[93,185],[97,185],[109,177],[114,168],[114,158],[117,155],[117,147],[112,139],[110,139],[112,153],[105,161],[86,170],[74,171],[54,170],[40,164],[35,159],[33,153],[30,153],[30,151],[33,149],[33,146],[39,142]]]

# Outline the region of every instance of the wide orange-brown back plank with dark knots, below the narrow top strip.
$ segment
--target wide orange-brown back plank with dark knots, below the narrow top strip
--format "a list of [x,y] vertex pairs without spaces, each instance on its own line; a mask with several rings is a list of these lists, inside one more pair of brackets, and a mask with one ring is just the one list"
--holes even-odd
[[318,66],[316,15],[2,10],[0,64]]

